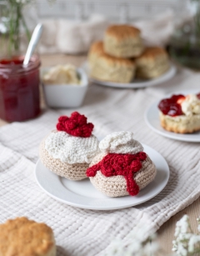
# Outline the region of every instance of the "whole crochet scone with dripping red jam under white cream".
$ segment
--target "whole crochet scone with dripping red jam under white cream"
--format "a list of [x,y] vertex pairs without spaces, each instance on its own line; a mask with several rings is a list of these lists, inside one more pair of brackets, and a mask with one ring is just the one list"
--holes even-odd
[[99,148],[101,153],[92,159],[87,177],[108,197],[135,196],[155,178],[155,165],[133,133],[111,133]]

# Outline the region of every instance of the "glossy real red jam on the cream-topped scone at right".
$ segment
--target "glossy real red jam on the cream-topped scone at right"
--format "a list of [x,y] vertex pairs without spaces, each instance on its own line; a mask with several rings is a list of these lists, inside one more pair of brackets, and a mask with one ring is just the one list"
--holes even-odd
[[158,108],[164,115],[176,117],[183,115],[181,103],[185,99],[182,94],[173,95],[171,98],[164,98],[158,104]]

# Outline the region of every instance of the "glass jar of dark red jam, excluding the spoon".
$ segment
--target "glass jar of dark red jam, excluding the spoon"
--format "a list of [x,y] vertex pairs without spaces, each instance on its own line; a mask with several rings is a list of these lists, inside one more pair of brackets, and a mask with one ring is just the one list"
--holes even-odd
[[23,56],[0,59],[0,118],[24,121],[40,113],[39,67],[37,55],[26,67]]

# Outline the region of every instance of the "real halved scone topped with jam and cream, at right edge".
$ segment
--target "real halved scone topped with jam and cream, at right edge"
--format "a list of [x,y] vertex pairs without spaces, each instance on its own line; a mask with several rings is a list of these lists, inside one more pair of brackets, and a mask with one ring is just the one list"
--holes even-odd
[[169,132],[200,131],[200,94],[173,95],[160,101],[158,108],[161,125]]

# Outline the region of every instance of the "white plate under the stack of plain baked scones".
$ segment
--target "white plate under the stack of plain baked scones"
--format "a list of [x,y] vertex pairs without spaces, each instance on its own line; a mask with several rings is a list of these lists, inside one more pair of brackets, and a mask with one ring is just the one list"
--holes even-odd
[[107,87],[113,87],[113,88],[146,88],[158,85],[160,83],[167,82],[169,79],[173,78],[174,75],[177,72],[177,68],[171,63],[169,70],[166,73],[163,73],[162,76],[154,79],[149,80],[140,80],[140,79],[134,79],[131,83],[113,83],[113,82],[106,82],[106,81],[100,81],[95,78],[89,77],[89,68],[88,64],[84,63],[82,65],[82,68],[86,71],[87,76],[89,80],[92,83],[97,83],[103,86]]

